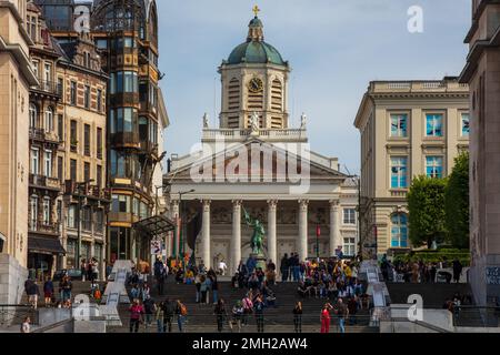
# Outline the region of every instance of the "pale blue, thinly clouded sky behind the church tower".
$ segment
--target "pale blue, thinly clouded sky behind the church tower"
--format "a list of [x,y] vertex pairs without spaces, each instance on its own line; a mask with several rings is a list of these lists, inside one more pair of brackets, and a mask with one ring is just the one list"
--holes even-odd
[[[311,149],[360,171],[353,126],[371,80],[439,80],[460,74],[471,0],[157,0],[161,88],[170,118],[164,149],[187,154],[200,141],[202,116],[218,126],[217,68],[244,42],[252,7],[264,40],[292,72],[290,126],[308,116]],[[423,32],[410,33],[408,10],[423,10]]]

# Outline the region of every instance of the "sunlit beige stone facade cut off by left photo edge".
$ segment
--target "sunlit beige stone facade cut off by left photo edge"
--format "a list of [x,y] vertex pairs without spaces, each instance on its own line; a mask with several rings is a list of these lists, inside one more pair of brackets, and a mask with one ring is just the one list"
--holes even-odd
[[26,0],[0,1],[0,303],[18,304],[28,275],[29,88],[38,85]]

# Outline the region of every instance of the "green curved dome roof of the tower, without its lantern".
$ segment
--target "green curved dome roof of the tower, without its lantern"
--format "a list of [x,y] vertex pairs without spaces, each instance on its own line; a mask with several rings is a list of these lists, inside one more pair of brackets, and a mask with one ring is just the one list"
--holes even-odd
[[264,41],[249,41],[234,48],[229,55],[228,64],[272,63],[287,65],[280,52]]

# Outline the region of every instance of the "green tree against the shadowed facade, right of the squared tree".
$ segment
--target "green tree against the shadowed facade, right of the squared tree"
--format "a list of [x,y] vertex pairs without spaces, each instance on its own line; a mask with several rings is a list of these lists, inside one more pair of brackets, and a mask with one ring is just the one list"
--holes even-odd
[[444,190],[448,241],[454,247],[469,248],[469,153],[454,159],[454,166]]

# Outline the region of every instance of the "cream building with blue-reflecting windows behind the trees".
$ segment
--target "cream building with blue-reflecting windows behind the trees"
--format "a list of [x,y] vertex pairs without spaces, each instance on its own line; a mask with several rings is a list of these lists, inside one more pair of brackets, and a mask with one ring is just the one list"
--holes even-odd
[[469,88],[441,81],[373,81],[354,125],[361,133],[361,247],[411,247],[407,193],[417,175],[444,178],[469,146]]

